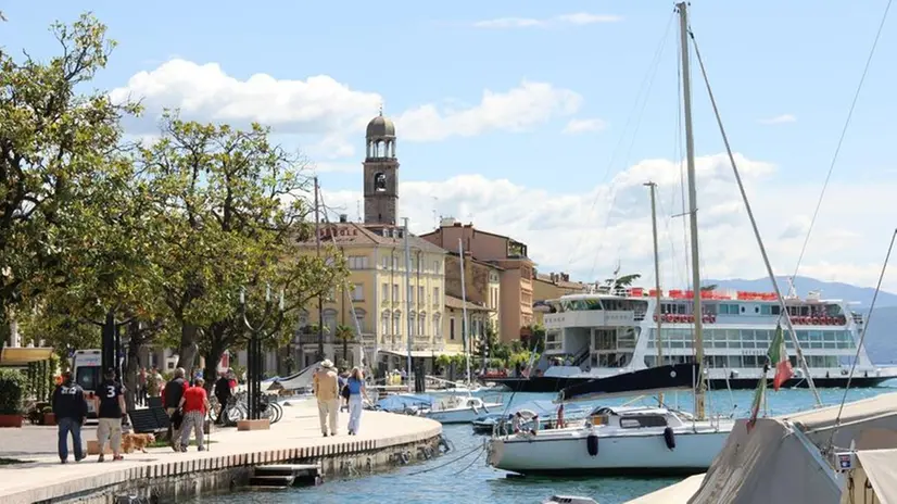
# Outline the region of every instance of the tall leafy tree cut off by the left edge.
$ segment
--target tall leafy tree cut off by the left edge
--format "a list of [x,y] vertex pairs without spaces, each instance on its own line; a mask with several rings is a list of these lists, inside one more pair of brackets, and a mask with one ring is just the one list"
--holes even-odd
[[[81,94],[105,67],[114,42],[90,15],[56,23],[61,55],[41,63],[0,50],[0,341],[9,315],[26,298],[35,310],[47,289],[68,281],[66,247],[96,184],[121,164],[119,118],[134,104],[113,104],[102,91]],[[64,231],[64,232],[63,232]],[[81,235],[84,237],[84,235]]]

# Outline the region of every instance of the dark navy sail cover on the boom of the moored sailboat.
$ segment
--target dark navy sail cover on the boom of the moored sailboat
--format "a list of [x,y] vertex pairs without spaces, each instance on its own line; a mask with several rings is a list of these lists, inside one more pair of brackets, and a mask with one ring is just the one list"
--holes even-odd
[[698,376],[695,363],[648,367],[577,383],[560,391],[558,401],[593,401],[622,395],[693,389]]

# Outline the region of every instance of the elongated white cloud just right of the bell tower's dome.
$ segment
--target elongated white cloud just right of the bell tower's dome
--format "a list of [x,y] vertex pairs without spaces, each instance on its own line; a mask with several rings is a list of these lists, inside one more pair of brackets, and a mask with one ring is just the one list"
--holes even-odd
[[523,80],[507,92],[483,91],[480,103],[467,108],[421,105],[395,117],[402,140],[432,141],[472,137],[488,130],[521,131],[554,116],[576,113],[582,97],[546,83]]

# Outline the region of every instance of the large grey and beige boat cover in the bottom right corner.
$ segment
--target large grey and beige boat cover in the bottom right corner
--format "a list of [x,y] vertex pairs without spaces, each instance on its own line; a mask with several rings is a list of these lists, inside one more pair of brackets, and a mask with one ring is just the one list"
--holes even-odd
[[[820,454],[829,448],[837,412],[834,406],[759,418],[749,433],[746,420],[740,420],[688,503],[837,504],[842,490],[833,476],[833,462]],[[835,451],[847,451],[851,443],[856,450],[897,448],[897,393],[847,403],[841,418]],[[873,471],[892,471],[892,476],[881,476],[885,481],[894,478],[894,467]]]

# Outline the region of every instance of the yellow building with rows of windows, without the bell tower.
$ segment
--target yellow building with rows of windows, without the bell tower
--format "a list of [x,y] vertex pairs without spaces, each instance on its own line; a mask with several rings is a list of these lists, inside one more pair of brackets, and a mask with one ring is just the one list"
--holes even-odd
[[[349,223],[342,218],[340,223],[321,226],[319,232],[321,243],[334,245],[345,257],[352,286],[343,292],[330,293],[323,303],[320,318],[317,300],[309,302],[301,315],[300,328],[323,319],[325,356],[336,357],[334,362],[343,360],[342,341],[336,335],[339,326],[348,326],[357,335],[353,308],[361,337],[353,338],[349,345],[348,365],[358,365],[364,352],[367,365],[377,362],[389,369],[405,368],[408,335],[414,357],[431,361],[438,356],[445,348],[442,331],[445,251],[409,236],[410,275],[407,277],[403,228]],[[316,253],[314,240],[299,245],[302,253]],[[298,362],[313,364],[318,335],[300,329],[296,339],[301,354]]]

